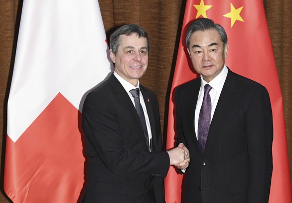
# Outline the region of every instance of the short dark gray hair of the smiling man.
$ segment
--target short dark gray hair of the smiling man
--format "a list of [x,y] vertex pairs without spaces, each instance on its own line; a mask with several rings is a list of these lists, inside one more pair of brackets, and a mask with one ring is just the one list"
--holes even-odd
[[118,47],[120,45],[120,36],[121,35],[131,35],[133,33],[136,33],[139,38],[146,38],[147,39],[147,46],[148,46],[148,55],[150,51],[150,42],[149,42],[149,37],[148,33],[142,29],[140,26],[137,26],[135,24],[129,24],[129,25],[124,25],[120,28],[118,28],[116,31],[114,31],[109,39],[109,46],[110,49],[112,50],[112,53],[116,55]]

